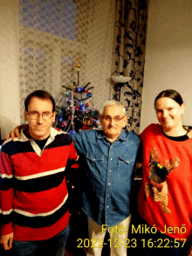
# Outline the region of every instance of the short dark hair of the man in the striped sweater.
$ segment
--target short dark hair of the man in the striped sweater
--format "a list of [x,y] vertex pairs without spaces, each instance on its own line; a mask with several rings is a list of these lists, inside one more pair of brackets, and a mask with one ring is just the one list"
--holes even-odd
[[28,112],[28,106],[31,102],[31,99],[32,98],[39,98],[41,100],[51,100],[51,103],[52,103],[52,113],[55,111],[55,100],[52,98],[51,94],[50,93],[47,93],[46,91],[44,90],[37,90],[37,91],[34,91],[32,93],[30,93],[26,99],[24,100],[24,107],[25,107],[25,110]]

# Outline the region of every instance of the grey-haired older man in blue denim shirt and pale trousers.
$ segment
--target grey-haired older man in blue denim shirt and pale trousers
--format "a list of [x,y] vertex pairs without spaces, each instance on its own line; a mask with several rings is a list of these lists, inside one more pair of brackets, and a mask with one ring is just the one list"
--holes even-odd
[[[108,100],[100,112],[102,130],[72,135],[83,169],[83,211],[88,216],[90,246],[87,255],[101,255],[106,230],[111,255],[127,255],[130,225],[130,194],[141,140],[123,132],[126,109]],[[133,245],[136,246],[135,241]]]

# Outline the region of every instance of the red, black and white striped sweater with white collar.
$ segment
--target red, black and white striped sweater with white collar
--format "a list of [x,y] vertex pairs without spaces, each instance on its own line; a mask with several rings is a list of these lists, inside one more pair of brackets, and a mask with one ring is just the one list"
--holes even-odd
[[69,222],[65,165],[78,159],[70,135],[51,128],[43,151],[22,133],[0,158],[1,234],[20,241],[51,239]]

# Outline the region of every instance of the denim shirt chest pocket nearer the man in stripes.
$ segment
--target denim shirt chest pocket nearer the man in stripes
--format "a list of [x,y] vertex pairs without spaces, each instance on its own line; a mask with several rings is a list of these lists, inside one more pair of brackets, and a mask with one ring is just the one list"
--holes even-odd
[[93,176],[100,176],[104,167],[104,155],[86,153],[86,164]]

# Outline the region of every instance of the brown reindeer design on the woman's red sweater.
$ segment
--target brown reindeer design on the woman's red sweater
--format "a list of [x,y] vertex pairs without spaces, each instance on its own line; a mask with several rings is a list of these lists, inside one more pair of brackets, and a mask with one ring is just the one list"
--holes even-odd
[[149,156],[150,171],[149,181],[145,183],[145,196],[152,197],[155,202],[160,202],[161,210],[171,213],[168,209],[168,183],[166,178],[180,163],[178,157],[166,160],[165,164],[158,162],[159,156],[156,148],[151,149]]

